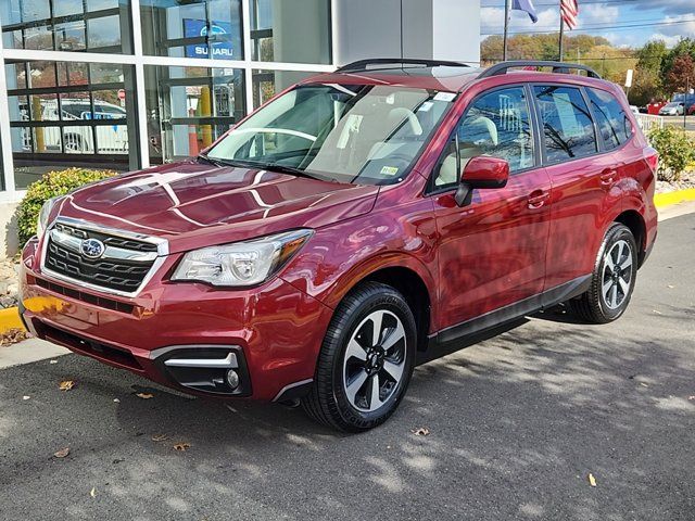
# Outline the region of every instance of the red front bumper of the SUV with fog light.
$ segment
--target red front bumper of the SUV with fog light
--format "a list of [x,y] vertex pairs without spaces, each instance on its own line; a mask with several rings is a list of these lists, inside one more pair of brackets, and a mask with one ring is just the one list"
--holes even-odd
[[129,298],[51,279],[38,249],[25,246],[20,285],[23,320],[39,338],[191,394],[271,401],[314,377],[332,312],[280,278],[245,290],[170,283],[161,279],[167,258]]

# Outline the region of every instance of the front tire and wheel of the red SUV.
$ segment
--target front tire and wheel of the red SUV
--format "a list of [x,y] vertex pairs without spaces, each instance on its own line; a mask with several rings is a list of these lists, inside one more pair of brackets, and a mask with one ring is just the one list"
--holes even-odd
[[383,423],[410,382],[416,340],[415,318],[401,293],[379,282],[358,285],[333,314],[302,407],[316,421],[345,432]]

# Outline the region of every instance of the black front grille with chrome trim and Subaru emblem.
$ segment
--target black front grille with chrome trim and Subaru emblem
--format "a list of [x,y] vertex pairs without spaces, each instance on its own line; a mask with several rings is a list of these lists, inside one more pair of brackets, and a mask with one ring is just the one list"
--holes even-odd
[[[101,241],[106,246],[105,253],[96,259],[85,256],[79,247],[85,239]],[[87,282],[124,293],[132,293],[140,288],[154,264],[157,252],[157,245],[151,242],[126,239],[64,223],[56,223],[47,234],[46,247],[45,267],[50,271],[76,282]]]

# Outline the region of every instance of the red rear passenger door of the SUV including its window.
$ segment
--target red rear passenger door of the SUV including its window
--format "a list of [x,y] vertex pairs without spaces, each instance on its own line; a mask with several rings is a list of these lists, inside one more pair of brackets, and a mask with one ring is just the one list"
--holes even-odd
[[603,153],[582,88],[534,85],[533,97],[553,186],[545,280],[549,302],[592,272],[603,217],[620,204],[617,191],[611,192],[618,167],[612,154]]

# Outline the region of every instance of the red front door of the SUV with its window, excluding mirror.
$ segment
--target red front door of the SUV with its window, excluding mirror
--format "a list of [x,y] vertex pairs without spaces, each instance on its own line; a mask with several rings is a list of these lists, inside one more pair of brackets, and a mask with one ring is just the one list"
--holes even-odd
[[[459,171],[470,157],[482,154],[508,161],[509,181],[505,188],[476,190],[471,203],[459,207],[454,201]],[[523,86],[473,100],[433,173],[438,329],[519,301],[538,301],[531,297],[544,288],[551,194],[548,175],[538,161]],[[507,308],[511,314],[518,309]]]

